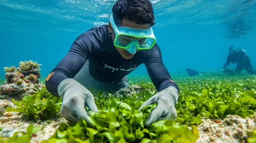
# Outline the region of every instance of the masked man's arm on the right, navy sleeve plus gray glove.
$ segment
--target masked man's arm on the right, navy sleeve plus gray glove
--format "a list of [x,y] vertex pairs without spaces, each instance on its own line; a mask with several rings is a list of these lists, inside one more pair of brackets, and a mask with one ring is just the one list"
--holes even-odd
[[144,124],[146,127],[149,127],[152,123],[159,120],[175,120],[177,117],[175,103],[179,98],[179,87],[171,80],[168,70],[163,64],[159,46],[155,43],[154,47],[146,53],[146,61],[144,63],[156,90],[159,91],[139,108],[139,110],[142,110],[147,105],[157,104]]

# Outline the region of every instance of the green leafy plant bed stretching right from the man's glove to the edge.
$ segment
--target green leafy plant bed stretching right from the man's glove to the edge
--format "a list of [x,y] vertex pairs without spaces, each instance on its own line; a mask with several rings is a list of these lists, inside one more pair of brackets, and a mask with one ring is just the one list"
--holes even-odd
[[235,114],[245,118],[256,111],[253,76],[184,77],[178,84],[180,97],[175,106],[179,124],[199,125],[202,116],[219,118]]

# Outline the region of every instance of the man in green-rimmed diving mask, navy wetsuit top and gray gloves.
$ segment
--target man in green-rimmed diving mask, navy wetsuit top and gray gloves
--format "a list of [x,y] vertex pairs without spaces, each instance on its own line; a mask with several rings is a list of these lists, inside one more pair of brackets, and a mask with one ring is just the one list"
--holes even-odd
[[94,112],[98,109],[87,88],[127,87],[127,75],[145,64],[159,91],[139,108],[157,103],[145,126],[176,118],[174,104],[179,98],[179,87],[172,81],[155,43],[154,21],[149,0],[119,0],[112,8],[108,25],[94,27],[75,39],[68,54],[46,79],[47,90],[63,98],[63,117],[72,122],[84,118],[89,123],[85,106]]

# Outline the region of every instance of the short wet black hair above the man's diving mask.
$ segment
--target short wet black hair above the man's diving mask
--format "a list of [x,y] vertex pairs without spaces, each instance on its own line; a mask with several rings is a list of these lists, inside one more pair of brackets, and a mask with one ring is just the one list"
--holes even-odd
[[112,13],[116,26],[120,26],[124,18],[138,25],[155,25],[153,7],[149,0],[119,0],[114,4]]

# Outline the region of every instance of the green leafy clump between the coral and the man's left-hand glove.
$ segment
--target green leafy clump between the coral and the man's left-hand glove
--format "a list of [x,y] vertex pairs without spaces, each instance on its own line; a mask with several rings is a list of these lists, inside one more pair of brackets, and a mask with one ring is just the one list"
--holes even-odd
[[6,111],[21,112],[29,119],[40,118],[41,120],[60,112],[62,104],[60,98],[52,96],[45,87],[37,90],[33,95],[25,95],[21,101],[12,99],[17,108],[7,107]]

